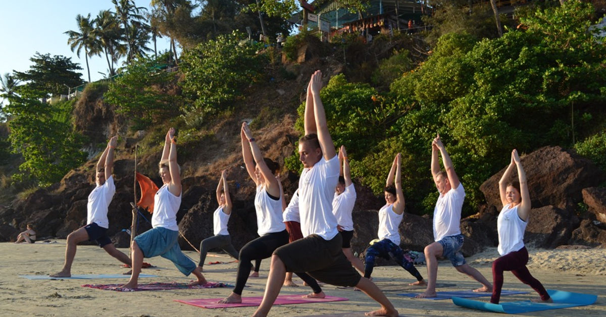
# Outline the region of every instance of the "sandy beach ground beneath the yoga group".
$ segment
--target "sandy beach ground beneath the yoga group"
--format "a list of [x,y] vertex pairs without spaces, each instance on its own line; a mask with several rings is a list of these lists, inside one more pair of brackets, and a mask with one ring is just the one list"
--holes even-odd
[[[18,275],[47,275],[58,272],[63,263],[65,241],[52,244],[0,243],[2,262],[0,264],[0,315],[1,316],[249,316],[255,307],[235,307],[228,309],[202,309],[175,302],[175,299],[223,298],[231,288],[161,290],[147,292],[113,292],[81,287],[82,284],[116,284],[124,279],[64,279],[30,280]],[[122,250],[128,252],[128,250]],[[524,316],[606,316],[606,249],[588,250],[529,250],[528,268],[547,289],[598,295],[594,305],[569,309],[546,310]],[[185,252],[190,258],[198,259],[196,252]],[[208,256],[209,261],[231,261],[225,255]],[[498,256],[496,248],[487,249],[467,258],[490,281],[491,261]],[[147,282],[187,282],[190,278],[179,273],[174,265],[163,258],[145,259],[156,265],[144,269],[142,273],[157,275],[142,278]],[[270,262],[263,261],[261,278],[249,279],[242,296],[262,296]],[[208,281],[233,284],[236,263],[205,265],[204,275]],[[424,266],[418,267],[427,276]],[[102,249],[84,245],[78,247],[72,274],[119,274],[127,272],[119,262]],[[401,316],[487,316],[494,315],[457,307],[450,300],[430,301],[398,296],[397,293],[418,293],[423,289],[404,289],[413,282],[412,276],[401,267],[376,267],[373,272],[375,282],[387,289],[385,294],[399,310]],[[305,294],[310,291],[302,286],[284,287],[281,294]],[[450,262],[439,264],[438,282],[456,284],[440,290],[468,290],[479,284],[467,276],[456,272]],[[404,290],[396,290],[402,287]],[[270,316],[363,316],[378,305],[364,295],[347,289],[337,289],[333,285],[323,285],[327,295],[348,298],[348,301],[319,304],[276,305]],[[503,296],[501,301],[526,300],[536,297],[530,287],[522,284],[511,273],[505,273],[504,289],[528,291],[524,295]],[[489,301],[489,297],[478,298]],[[501,315],[502,316],[502,315]]]

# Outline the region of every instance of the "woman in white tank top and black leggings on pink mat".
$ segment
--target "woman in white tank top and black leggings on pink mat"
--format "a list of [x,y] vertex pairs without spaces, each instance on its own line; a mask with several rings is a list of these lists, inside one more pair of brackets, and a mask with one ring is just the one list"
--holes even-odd
[[[219,301],[224,304],[242,302],[242,290],[248,280],[251,260],[269,258],[278,247],[288,244],[288,232],[282,221],[282,187],[275,176],[278,164],[263,157],[246,122],[242,123],[240,136],[244,164],[256,185],[255,211],[259,238],[248,242],[240,250],[236,285],[229,296]],[[296,274],[306,282],[315,282],[305,273]],[[313,293],[307,296],[324,298],[324,292],[318,283],[312,288]]]

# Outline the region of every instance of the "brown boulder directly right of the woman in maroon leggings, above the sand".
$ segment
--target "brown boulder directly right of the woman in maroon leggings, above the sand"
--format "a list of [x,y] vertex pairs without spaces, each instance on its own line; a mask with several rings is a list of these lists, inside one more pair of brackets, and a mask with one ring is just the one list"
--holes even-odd
[[567,244],[578,226],[579,218],[567,210],[552,205],[532,209],[524,241],[530,247],[553,249]]

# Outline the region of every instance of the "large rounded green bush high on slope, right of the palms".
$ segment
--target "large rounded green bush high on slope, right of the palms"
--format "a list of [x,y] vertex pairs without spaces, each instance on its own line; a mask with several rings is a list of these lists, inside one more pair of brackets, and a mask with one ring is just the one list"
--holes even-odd
[[184,52],[181,86],[191,101],[183,109],[189,124],[199,124],[205,114],[228,108],[259,78],[266,62],[265,55],[258,54],[260,48],[260,44],[234,32]]

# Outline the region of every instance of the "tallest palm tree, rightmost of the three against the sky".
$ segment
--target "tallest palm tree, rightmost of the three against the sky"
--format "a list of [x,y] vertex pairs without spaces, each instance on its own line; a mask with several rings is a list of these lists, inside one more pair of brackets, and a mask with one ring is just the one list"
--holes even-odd
[[137,7],[134,0],[112,0],[114,7],[116,8],[116,17],[124,28],[124,35],[126,37],[128,53],[127,62],[130,62],[135,57],[135,42],[138,39],[133,39],[130,36],[133,34],[141,34],[139,30],[132,30],[132,28],[141,27],[146,25],[144,22],[145,17],[141,15],[142,12],[147,10],[145,7]]

